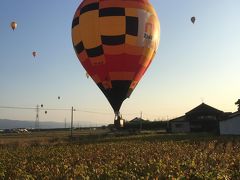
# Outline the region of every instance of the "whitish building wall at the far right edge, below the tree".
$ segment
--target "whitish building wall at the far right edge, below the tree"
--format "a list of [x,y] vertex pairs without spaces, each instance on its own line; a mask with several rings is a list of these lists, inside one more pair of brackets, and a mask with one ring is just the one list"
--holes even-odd
[[240,116],[235,116],[219,124],[221,135],[240,135]]

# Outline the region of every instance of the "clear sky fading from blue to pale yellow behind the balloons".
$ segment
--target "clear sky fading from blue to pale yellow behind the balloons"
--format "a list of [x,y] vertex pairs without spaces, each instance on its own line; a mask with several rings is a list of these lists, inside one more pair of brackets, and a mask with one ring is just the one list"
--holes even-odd
[[[85,77],[72,47],[71,23],[79,0],[0,1],[0,106],[71,108],[76,123],[112,123],[113,111]],[[240,1],[151,0],[161,22],[157,56],[121,112],[132,119],[183,115],[202,101],[236,111],[240,98]],[[196,23],[190,22],[196,16]],[[13,32],[9,24],[17,21]],[[32,51],[37,51],[34,59]],[[58,100],[58,96],[61,99]],[[0,109],[0,119],[34,120],[34,110]],[[70,111],[40,121],[70,120]]]

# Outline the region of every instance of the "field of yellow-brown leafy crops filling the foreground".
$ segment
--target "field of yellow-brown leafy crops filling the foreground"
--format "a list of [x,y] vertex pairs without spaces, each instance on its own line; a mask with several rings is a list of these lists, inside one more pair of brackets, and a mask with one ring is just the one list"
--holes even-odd
[[1,145],[0,179],[239,179],[240,138],[144,134]]

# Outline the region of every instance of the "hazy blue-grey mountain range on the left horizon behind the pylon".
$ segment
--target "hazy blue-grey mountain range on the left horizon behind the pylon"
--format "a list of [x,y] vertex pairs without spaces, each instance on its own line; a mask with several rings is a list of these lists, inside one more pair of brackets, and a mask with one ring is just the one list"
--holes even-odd
[[[40,129],[64,128],[60,122],[40,122]],[[35,121],[0,119],[0,129],[35,128]]]

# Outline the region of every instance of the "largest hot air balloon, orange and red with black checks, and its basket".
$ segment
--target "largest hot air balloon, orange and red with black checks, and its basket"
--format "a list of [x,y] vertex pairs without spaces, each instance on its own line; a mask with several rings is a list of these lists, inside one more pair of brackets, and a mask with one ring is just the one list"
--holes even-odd
[[72,21],[79,61],[108,99],[120,124],[120,108],[151,64],[160,23],[148,0],[83,0]]

